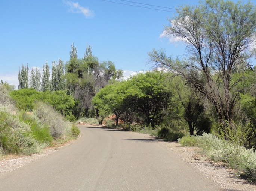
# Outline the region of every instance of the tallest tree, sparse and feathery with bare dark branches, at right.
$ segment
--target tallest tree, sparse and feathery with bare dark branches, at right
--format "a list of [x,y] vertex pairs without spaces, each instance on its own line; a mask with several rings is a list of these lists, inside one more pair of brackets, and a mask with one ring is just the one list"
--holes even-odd
[[206,0],[200,6],[183,6],[178,16],[169,19],[165,34],[187,44],[187,58],[183,61],[167,57],[163,50],[149,53],[155,67],[166,67],[182,76],[188,84],[201,92],[215,107],[228,139],[228,128],[234,128],[235,106],[240,93],[247,87],[238,83],[251,69],[250,58],[255,55],[256,9],[251,3]]

